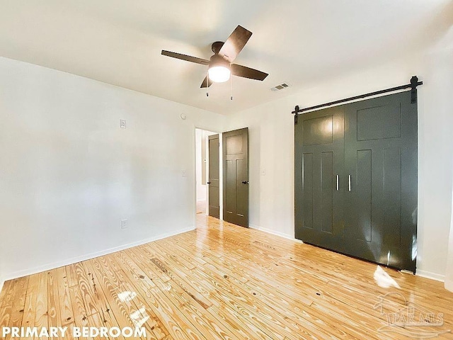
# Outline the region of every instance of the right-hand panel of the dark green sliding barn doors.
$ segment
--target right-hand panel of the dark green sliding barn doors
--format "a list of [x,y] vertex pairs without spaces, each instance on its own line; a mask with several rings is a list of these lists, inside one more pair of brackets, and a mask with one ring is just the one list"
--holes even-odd
[[345,252],[415,271],[417,104],[402,92],[345,106]]

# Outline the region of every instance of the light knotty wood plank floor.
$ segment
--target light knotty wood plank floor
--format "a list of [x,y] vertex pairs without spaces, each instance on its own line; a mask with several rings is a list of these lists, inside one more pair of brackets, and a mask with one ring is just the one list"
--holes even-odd
[[[444,324],[386,327],[391,313],[420,310]],[[149,339],[407,339],[453,329],[453,293],[198,214],[192,232],[11,280],[0,294],[0,326],[137,324]]]

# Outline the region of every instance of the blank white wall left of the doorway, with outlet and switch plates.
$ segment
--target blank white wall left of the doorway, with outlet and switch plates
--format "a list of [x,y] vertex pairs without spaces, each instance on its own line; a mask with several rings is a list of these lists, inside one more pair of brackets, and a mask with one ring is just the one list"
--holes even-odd
[[193,229],[195,125],[225,120],[5,58],[0,117],[4,279]]

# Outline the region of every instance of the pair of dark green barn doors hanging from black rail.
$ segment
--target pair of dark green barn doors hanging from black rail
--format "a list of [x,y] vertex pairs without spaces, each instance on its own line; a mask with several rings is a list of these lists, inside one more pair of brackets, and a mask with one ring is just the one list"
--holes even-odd
[[410,91],[299,115],[297,239],[415,271],[417,104]]

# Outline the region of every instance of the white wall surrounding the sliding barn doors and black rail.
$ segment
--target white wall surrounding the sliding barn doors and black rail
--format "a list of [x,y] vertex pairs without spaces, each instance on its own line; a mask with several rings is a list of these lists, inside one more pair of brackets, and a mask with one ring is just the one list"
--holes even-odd
[[418,91],[417,272],[442,280],[452,211],[453,55],[449,46],[441,44],[417,57],[311,84],[293,96],[232,116],[229,130],[249,127],[251,226],[294,237],[294,106],[408,84],[411,76],[418,75],[424,84]]

